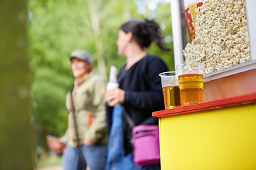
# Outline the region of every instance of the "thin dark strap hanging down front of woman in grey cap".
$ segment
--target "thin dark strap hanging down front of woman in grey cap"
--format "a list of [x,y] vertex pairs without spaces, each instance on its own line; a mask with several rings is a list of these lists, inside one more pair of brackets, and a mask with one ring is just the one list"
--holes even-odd
[[72,90],[70,91],[70,100],[71,100],[71,104],[72,104],[72,114],[73,114],[73,118],[74,118],[76,147],[78,149],[78,156],[81,160],[82,170],[85,170],[86,167],[87,167],[87,164],[85,162],[85,157],[82,154],[81,147],[78,146],[80,141],[79,141],[79,138],[78,138],[78,123],[77,123],[76,116],[75,116],[75,107],[74,107],[74,102],[73,102]]

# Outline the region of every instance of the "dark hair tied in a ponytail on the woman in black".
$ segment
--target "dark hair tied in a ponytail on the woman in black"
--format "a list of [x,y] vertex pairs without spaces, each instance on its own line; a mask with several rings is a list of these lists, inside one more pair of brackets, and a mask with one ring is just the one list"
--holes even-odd
[[149,21],[145,19],[144,22],[138,20],[131,20],[127,23],[123,23],[120,29],[122,29],[124,33],[132,32],[135,40],[142,47],[149,47],[151,42],[154,41],[161,50],[170,50],[162,41],[159,24],[153,20]]

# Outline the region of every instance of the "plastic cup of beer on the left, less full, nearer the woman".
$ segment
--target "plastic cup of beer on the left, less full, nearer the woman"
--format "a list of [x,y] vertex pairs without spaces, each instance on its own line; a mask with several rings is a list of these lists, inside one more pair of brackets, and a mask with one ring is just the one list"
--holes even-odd
[[159,74],[164,94],[165,109],[176,108],[181,106],[180,90],[178,87],[178,77],[176,72],[163,72]]

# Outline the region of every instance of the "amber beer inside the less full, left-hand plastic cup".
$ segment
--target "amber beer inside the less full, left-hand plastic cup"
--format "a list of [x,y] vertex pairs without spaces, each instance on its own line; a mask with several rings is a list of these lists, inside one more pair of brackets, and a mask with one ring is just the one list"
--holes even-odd
[[163,94],[165,109],[181,106],[180,90],[178,86],[164,86]]

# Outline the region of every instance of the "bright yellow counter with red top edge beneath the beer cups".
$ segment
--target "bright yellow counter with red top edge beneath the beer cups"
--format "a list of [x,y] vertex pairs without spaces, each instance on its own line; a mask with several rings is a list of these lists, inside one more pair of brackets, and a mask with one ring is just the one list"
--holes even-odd
[[256,169],[256,93],[152,115],[162,170]]

